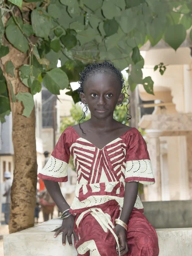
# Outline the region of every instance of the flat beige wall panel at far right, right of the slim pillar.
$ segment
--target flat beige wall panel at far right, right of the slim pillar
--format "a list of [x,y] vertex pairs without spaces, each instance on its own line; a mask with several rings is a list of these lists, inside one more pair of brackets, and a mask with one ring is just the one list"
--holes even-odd
[[162,200],[189,200],[186,136],[165,136],[160,141]]

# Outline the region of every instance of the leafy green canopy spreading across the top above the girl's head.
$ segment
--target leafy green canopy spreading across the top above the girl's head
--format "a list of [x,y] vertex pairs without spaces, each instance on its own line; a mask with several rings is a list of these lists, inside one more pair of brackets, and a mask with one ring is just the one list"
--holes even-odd
[[[6,12],[10,16],[5,23]],[[86,64],[103,60],[113,61],[120,70],[131,65],[128,70],[131,90],[143,84],[148,93],[154,94],[151,77],[143,78],[140,47],[147,41],[155,46],[163,39],[177,50],[191,26],[191,0],[3,1],[0,42],[5,34],[15,48],[29,55],[28,65],[20,67],[19,74],[23,84],[30,88],[31,96],[19,92],[12,98],[23,102],[23,115],[29,116],[34,105],[32,95],[41,91],[41,82],[51,93],[59,94],[59,90],[70,89],[69,82],[78,81]],[[189,35],[192,40],[192,30]],[[8,53],[9,48],[2,40],[0,58]],[[61,68],[57,67],[58,60]],[[166,68],[159,64],[155,66],[157,69],[163,74]],[[12,62],[7,63],[6,72],[10,77],[15,76]],[[2,72],[0,82],[4,88]],[[10,106],[8,95],[1,90],[3,122]],[[70,89],[70,95],[75,103],[79,101],[76,91]]]

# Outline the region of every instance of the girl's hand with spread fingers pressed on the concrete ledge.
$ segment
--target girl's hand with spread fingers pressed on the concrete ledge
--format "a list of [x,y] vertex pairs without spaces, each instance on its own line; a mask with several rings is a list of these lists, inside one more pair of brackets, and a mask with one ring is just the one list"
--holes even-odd
[[64,219],[61,227],[57,230],[57,232],[54,235],[54,238],[56,238],[58,236],[58,234],[63,232],[63,235],[62,235],[62,244],[63,245],[66,244],[66,236],[67,236],[69,245],[70,246],[73,245],[72,238],[71,238],[72,234],[73,234],[74,238],[76,239],[76,241],[78,241],[78,237],[77,237],[75,231],[73,230],[75,218],[76,218],[75,216],[70,215],[68,218]]

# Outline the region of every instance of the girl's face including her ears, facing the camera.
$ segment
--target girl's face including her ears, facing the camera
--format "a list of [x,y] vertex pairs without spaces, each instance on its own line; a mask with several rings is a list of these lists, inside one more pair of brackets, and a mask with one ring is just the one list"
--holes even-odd
[[110,73],[94,74],[87,78],[80,93],[81,100],[87,104],[90,113],[98,119],[113,116],[116,104],[122,103],[125,95],[121,93],[121,85]]

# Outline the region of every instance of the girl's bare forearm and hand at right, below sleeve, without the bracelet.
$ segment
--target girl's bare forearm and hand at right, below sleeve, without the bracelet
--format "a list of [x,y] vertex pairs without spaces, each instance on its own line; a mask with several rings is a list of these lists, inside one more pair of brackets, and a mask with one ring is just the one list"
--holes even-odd
[[[122,212],[120,215],[120,220],[128,223],[129,217],[133,210],[135,201],[137,199],[139,182],[131,181],[125,183],[125,195],[124,195],[124,202],[122,207]],[[120,253],[121,256],[128,253],[128,244],[127,244],[127,231],[124,227],[120,226],[119,224],[115,227],[116,236],[119,238],[120,242]],[[118,251],[117,251],[118,252]]]

